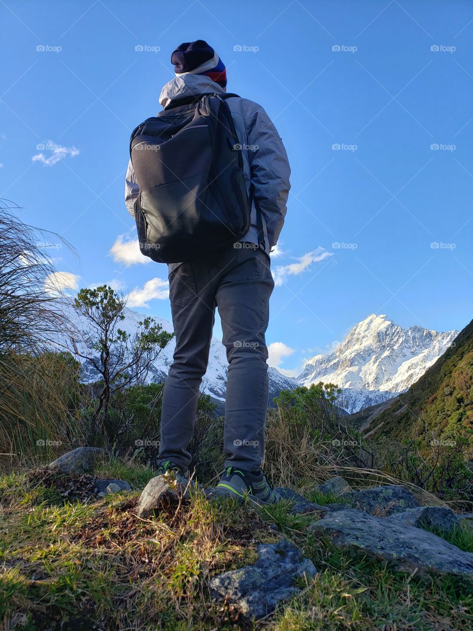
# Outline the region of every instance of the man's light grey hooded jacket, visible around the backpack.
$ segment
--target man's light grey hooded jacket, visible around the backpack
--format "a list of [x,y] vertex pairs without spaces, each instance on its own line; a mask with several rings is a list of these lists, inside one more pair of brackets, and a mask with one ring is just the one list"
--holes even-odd
[[[184,74],[172,79],[161,90],[160,104],[166,107],[176,98],[184,98],[207,92],[224,93],[225,90],[203,74]],[[286,202],[289,193],[288,156],[276,127],[264,109],[247,98],[226,99],[230,107],[238,140],[243,145],[243,170],[247,183],[254,186],[254,197],[259,205],[266,252],[277,243],[286,215]],[[133,203],[139,193],[131,160],[128,164],[125,184],[125,203],[134,218]],[[251,225],[240,241],[258,243],[256,210],[253,205]]]

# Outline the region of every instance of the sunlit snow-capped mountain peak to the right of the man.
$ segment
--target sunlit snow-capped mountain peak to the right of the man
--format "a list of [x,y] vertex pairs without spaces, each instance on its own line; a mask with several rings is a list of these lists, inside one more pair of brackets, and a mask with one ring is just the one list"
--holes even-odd
[[319,381],[342,388],[350,413],[382,403],[416,382],[442,355],[458,331],[403,329],[386,315],[359,322],[330,355],[316,355],[297,377],[301,386]]

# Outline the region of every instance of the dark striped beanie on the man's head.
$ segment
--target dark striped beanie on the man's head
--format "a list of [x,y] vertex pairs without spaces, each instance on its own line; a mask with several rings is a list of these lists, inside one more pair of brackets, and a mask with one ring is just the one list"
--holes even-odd
[[212,81],[225,88],[226,68],[215,50],[204,42],[184,42],[171,56],[177,77],[183,74],[206,74]]

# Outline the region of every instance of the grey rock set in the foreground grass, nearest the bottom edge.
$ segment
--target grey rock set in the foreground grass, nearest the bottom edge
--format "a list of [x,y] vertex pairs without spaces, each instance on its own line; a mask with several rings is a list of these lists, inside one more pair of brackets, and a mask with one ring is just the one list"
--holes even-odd
[[276,609],[279,601],[298,594],[294,586],[297,577],[314,577],[317,570],[312,561],[303,558],[293,543],[259,543],[258,560],[239,570],[230,570],[213,577],[211,594],[237,604],[247,618],[262,618]]

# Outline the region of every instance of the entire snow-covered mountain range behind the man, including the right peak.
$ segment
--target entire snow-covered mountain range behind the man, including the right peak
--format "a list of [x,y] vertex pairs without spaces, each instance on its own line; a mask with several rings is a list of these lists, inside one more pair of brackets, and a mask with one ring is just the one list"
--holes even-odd
[[[77,314],[72,302],[66,301],[66,309],[75,326],[86,330],[87,322]],[[136,331],[136,324],[143,314],[126,308],[120,328],[129,333]],[[172,332],[172,324],[155,317],[163,329]],[[283,389],[310,386],[319,381],[334,383],[342,388],[342,401],[348,413],[354,413],[377,403],[387,401],[416,382],[442,355],[458,331],[438,333],[411,326],[402,329],[385,315],[371,314],[359,322],[346,339],[329,355],[316,355],[305,363],[303,372],[296,378],[286,377],[275,368],[268,369],[269,403]],[[163,349],[149,371],[149,381],[162,381],[172,363],[175,340]],[[95,370],[83,365],[86,378],[94,380]],[[223,413],[228,363],[225,347],[218,338],[212,338],[209,364],[202,380],[202,389],[218,405]]]

